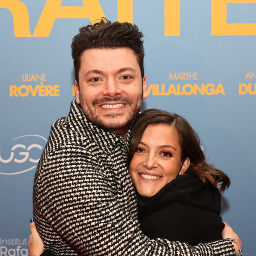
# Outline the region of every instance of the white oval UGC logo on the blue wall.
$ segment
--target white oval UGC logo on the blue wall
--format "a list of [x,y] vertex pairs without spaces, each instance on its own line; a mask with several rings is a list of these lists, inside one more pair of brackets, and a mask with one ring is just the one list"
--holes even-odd
[[30,134],[11,141],[11,152],[0,146],[0,174],[16,175],[35,169],[47,139]]

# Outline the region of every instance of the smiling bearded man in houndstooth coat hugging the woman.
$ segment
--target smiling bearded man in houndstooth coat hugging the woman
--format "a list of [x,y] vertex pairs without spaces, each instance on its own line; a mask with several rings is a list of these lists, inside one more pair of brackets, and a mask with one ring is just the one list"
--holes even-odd
[[129,126],[147,98],[142,33],[101,20],[73,38],[76,100],[57,120],[38,163],[34,218],[56,255],[234,255],[217,241],[197,247],[150,240],[139,230],[127,170]]

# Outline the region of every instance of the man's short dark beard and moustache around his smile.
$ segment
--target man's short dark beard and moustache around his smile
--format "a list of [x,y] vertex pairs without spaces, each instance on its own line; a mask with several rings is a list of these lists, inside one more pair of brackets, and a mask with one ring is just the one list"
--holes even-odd
[[[80,96],[81,96],[81,94],[79,95],[79,97]],[[80,104],[83,109],[83,113],[85,114],[87,119],[89,119],[94,125],[98,126],[99,128],[102,128],[106,131],[112,131],[112,130],[120,130],[125,127],[128,128],[128,126],[130,125],[132,120],[139,113],[142,99],[143,99],[143,93],[141,93],[141,95],[139,97],[139,101],[137,101],[137,102],[134,102],[131,99],[125,98],[122,96],[117,96],[115,98],[103,97],[101,99],[94,100],[92,102],[92,107],[89,108],[88,105],[84,103],[83,98],[80,97]],[[125,104],[130,105],[131,109],[129,110],[129,113],[126,113],[126,114],[124,114],[124,113],[109,113],[109,114],[102,116],[103,118],[99,117],[98,115],[96,115],[95,105],[100,104],[100,103],[106,103],[106,102],[111,102],[111,103],[124,102]],[[126,116],[125,120],[122,123],[120,123],[120,120],[118,120],[118,117],[122,117],[124,115],[127,115],[127,116]],[[105,120],[105,119],[107,119],[107,120]]]

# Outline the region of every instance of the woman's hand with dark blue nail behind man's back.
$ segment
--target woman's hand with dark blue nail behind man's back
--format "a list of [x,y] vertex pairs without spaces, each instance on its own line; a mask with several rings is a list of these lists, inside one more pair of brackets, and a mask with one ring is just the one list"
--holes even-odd
[[31,234],[28,241],[29,255],[40,256],[44,252],[44,242],[36,229],[34,219],[30,220]]

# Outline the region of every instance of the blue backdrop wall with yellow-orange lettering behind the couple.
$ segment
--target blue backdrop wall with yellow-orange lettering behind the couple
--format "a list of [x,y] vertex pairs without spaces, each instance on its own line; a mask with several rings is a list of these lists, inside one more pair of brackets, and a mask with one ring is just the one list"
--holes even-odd
[[142,30],[142,110],[192,124],[231,180],[223,221],[254,255],[256,0],[0,0],[0,256],[28,255],[34,173],[75,98],[71,41],[102,16]]

